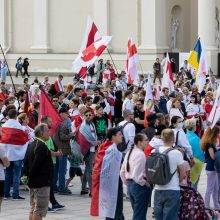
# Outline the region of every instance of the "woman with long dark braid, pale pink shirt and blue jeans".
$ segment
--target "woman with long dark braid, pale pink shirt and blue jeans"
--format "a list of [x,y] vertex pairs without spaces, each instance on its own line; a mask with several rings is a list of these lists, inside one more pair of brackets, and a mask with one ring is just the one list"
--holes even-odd
[[128,194],[133,209],[133,220],[146,219],[151,189],[146,180],[146,157],[143,150],[148,145],[145,134],[138,133],[134,138],[134,146],[126,154],[121,167],[120,176],[128,187]]

